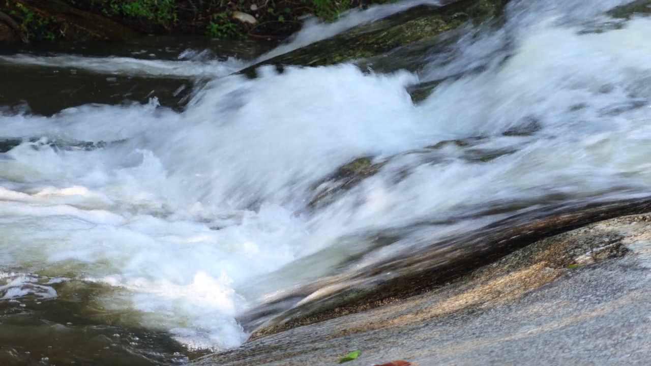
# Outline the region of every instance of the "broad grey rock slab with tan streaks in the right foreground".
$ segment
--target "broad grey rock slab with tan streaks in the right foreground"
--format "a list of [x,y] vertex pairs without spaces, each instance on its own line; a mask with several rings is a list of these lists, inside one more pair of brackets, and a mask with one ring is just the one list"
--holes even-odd
[[370,310],[358,302],[359,313],[266,335],[195,364],[331,365],[360,349],[351,365],[395,358],[421,365],[645,365],[649,273],[651,215],[598,221],[417,296]]

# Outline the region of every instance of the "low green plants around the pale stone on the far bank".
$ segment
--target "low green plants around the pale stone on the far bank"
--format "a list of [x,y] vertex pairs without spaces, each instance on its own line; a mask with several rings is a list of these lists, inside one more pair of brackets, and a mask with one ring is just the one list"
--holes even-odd
[[[242,38],[246,35],[288,35],[298,30],[301,17],[312,14],[325,21],[366,3],[390,3],[395,0],[68,0],[72,5],[90,2],[105,16],[145,26],[147,33],[203,33],[214,38]],[[233,18],[234,12],[254,16],[255,25]],[[146,22],[146,24],[143,24]]]

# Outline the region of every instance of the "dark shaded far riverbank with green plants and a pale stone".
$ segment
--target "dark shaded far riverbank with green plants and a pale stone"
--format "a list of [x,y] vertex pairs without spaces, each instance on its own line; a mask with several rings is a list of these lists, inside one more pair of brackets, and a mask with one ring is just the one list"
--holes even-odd
[[393,0],[8,0],[0,3],[0,42],[124,40],[137,35],[205,35],[281,40],[314,16]]

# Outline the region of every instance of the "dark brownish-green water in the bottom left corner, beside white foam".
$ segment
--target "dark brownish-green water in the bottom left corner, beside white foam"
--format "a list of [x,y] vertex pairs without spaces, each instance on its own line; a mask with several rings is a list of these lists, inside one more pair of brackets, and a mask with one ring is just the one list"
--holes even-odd
[[[96,303],[98,296],[115,291],[111,287],[56,279],[49,284],[48,277],[28,277],[30,283],[23,286],[51,287],[59,298],[42,299],[37,291],[20,301],[0,302],[3,365],[180,365],[206,354],[187,350],[166,333],[125,326],[135,324],[135,315]],[[0,295],[9,296],[2,289]]]

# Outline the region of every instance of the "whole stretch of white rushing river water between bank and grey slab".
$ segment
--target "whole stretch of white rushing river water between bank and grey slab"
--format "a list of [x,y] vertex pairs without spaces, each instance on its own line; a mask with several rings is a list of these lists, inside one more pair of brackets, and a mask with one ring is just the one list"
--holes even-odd
[[[605,15],[626,2],[515,1],[417,73],[247,79],[230,74],[250,54],[178,43],[0,55],[0,360],[186,363],[245,341],[251,302],[374,234],[650,193],[651,19]],[[415,4],[310,25],[281,51]],[[387,162],[310,203],[365,156]]]

